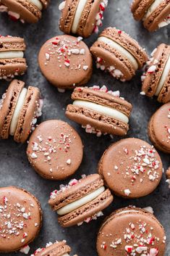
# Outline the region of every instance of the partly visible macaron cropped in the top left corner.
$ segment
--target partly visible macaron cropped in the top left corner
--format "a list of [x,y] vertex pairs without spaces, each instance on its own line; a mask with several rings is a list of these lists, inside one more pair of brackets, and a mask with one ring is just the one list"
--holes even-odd
[[48,7],[50,0],[1,0],[0,12],[7,12],[9,17],[22,23],[35,23],[41,19],[43,9]]

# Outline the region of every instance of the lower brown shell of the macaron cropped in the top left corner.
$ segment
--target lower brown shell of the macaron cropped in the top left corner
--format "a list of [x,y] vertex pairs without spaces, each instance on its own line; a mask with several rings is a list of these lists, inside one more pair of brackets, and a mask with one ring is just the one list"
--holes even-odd
[[41,18],[41,11],[27,0],[1,0],[11,12],[20,14],[20,19],[28,23],[35,23]]

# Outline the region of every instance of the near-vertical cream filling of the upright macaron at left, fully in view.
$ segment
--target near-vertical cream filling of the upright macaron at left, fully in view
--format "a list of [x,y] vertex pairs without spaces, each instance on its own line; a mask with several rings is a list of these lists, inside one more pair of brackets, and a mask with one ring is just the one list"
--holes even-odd
[[9,127],[9,134],[11,136],[14,136],[14,133],[17,129],[17,123],[18,123],[18,120],[20,117],[20,112],[22,110],[23,104],[25,102],[26,95],[27,95],[27,89],[22,88],[22,91],[21,91],[20,96],[17,101],[17,105],[14,109],[14,114],[12,116],[12,120],[11,120],[10,127]]

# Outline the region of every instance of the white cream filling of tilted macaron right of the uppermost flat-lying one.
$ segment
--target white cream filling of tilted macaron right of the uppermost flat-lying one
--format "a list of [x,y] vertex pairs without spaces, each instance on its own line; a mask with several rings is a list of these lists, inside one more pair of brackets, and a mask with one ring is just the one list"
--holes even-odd
[[105,36],[100,36],[98,38],[98,41],[103,42],[104,44],[108,44],[109,46],[111,46],[112,48],[116,49],[117,51],[119,51],[122,55],[124,55],[125,57],[127,57],[127,59],[129,59],[129,62],[132,63],[132,65],[135,67],[135,70],[138,69],[138,63],[137,60],[135,59],[135,57],[133,57],[133,55],[127,51],[124,47],[122,47],[121,45],[117,44],[115,41],[106,38]]

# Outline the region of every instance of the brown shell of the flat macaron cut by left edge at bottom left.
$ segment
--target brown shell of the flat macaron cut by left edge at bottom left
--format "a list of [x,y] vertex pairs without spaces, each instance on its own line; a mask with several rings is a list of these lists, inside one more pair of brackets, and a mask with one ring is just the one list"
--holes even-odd
[[[39,204],[38,200],[29,192],[22,189],[17,189],[16,187],[12,186],[0,188],[1,204],[3,204],[3,198],[5,197],[8,200],[6,213],[10,213],[11,215],[13,220],[12,226],[15,226],[14,220],[16,223],[18,223],[18,221],[23,221],[27,225],[22,229],[18,228],[18,231],[20,232],[20,235],[18,236],[14,234],[8,234],[9,239],[5,239],[4,237],[0,236],[0,252],[14,252],[19,250],[21,247],[24,247],[26,244],[29,244],[38,235],[42,221],[41,205]],[[25,207],[25,212],[31,212],[31,218],[26,219],[22,217],[23,213],[21,211],[20,213],[17,211],[17,203],[22,205],[22,207]],[[33,205],[33,207],[30,205]],[[10,210],[8,210],[9,207]],[[19,214],[18,217],[15,216],[17,213]],[[7,217],[3,217],[3,213],[0,215],[1,227],[6,230],[4,222],[10,221],[10,218],[7,219]],[[21,242],[24,233],[27,233],[27,236],[25,236],[24,242]]]

